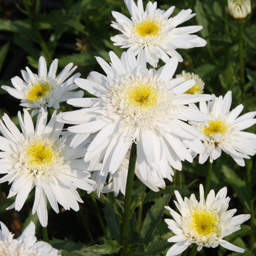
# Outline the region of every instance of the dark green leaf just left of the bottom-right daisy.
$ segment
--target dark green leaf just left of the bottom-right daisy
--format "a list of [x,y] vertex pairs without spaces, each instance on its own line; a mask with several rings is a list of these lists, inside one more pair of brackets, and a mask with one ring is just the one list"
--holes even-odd
[[144,239],[145,244],[149,244],[154,237],[154,234],[158,229],[158,225],[163,217],[165,210],[164,207],[169,204],[170,199],[171,195],[163,195],[156,200],[155,204],[147,212],[141,229],[141,236]]

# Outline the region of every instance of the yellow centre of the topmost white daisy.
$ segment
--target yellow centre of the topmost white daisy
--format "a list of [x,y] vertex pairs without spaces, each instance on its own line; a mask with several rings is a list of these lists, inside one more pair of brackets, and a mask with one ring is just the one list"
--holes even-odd
[[136,25],[135,31],[141,36],[157,37],[159,35],[160,26],[153,20],[146,20]]

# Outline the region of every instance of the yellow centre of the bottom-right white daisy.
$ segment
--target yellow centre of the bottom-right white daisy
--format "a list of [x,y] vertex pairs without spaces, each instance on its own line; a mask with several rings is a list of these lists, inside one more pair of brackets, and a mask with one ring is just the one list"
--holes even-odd
[[195,236],[207,238],[216,235],[218,232],[219,215],[209,210],[193,210],[189,226]]

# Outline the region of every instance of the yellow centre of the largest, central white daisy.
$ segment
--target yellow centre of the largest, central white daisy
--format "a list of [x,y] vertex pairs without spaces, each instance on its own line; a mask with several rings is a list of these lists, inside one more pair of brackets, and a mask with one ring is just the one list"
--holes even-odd
[[128,97],[134,107],[148,108],[155,105],[157,92],[155,88],[147,84],[138,83],[136,87],[130,88]]

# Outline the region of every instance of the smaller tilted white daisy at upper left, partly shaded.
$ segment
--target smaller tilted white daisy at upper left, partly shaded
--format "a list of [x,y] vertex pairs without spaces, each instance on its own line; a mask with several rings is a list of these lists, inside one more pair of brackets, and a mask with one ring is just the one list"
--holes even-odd
[[74,79],[80,77],[80,73],[71,76],[77,66],[72,67],[73,63],[69,63],[56,77],[58,60],[52,61],[47,73],[45,58],[41,56],[38,62],[38,75],[32,73],[26,67],[26,71],[21,71],[24,80],[18,76],[11,79],[15,88],[6,85],[2,85],[1,88],[13,97],[21,99],[20,105],[27,108],[27,110],[33,109],[32,117],[40,113],[41,108],[45,111],[47,111],[47,108],[57,110],[60,108],[60,102],[69,98],[83,97],[84,95],[83,91],[71,92],[71,90],[77,88]]

